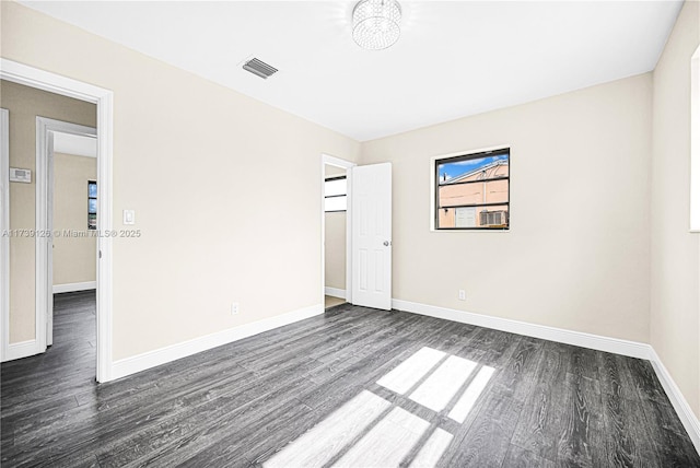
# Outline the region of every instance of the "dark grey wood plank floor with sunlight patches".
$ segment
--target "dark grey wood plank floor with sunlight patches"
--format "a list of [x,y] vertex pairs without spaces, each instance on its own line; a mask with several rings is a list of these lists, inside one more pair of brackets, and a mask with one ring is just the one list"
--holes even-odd
[[2,364],[3,467],[700,467],[645,361],[343,304],[97,385],[94,293],[55,304]]

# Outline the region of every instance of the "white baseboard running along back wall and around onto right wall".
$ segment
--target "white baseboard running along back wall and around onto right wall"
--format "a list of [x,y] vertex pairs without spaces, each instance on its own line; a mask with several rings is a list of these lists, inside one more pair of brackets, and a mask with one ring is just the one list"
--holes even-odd
[[527,337],[540,338],[544,340],[590,348],[597,351],[648,360],[654,367],[656,376],[664,387],[664,390],[676,410],[680,422],[682,422],[682,425],[692,440],[696,449],[700,454],[700,422],[651,344],[603,337],[599,335],[584,334],[581,331],[564,330],[562,328],[547,327],[545,325],[527,324],[525,321],[491,317],[488,315],[474,314],[454,308],[438,307],[434,305],[396,299],[392,300],[392,307],[398,311],[411,312],[413,314],[477,325],[479,327],[493,328],[495,330],[508,331],[511,334],[525,335]]

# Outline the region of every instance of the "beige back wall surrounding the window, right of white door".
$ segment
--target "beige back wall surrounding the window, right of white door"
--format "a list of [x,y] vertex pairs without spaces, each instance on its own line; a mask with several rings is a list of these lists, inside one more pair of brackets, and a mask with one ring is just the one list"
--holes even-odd
[[[394,167],[393,296],[648,341],[651,104],[646,73],[365,143]],[[493,147],[511,231],[431,232],[431,157]]]

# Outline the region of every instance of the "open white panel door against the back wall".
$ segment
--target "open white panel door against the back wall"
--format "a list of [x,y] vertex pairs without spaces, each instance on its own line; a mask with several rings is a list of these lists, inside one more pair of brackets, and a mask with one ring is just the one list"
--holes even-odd
[[352,172],[352,303],[392,308],[392,164]]

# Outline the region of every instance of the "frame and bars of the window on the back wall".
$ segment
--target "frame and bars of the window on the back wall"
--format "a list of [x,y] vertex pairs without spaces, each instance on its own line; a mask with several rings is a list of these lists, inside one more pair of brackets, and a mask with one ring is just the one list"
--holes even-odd
[[[432,159],[432,180],[433,180],[433,190],[432,190],[432,217],[431,217],[431,231],[442,231],[442,232],[450,232],[450,231],[456,231],[456,232],[463,232],[463,231],[467,231],[467,232],[510,232],[511,230],[511,147],[510,145],[502,145],[502,147],[495,147],[493,149],[488,149],[488,150],[478,150],[478,151],[469,151],[469,152],[462,152],[462,153],[455,153],[455,154],[448,154],[448,155],[444,155],[444,156],[435,156]],[[508,155],[508,164],[509,164],[509,169],[508,169],[508,176],[506,177],[495,177],[492,179],[487,179],[486,182],[498,182],[498,180],[508,180],[508,201],[505,202],[489,202],[489,203],[471,203],[471,204],[457,204],[454,207],[440,207],[440,166],[442,164],[445,163],[456,163],[456,162],[460,162],[460,161],[470,161],[470,160],[478,160],[481,157],[489,157],[489,156],[498,156],[498,155],[502,155],[502,154],[506,154]],[[468,184],[478,184],[478,183],[485,183],[485,180],[467,180],[467,182],[460,182],[454,185],[468,185]],[[508,225],[505,227],[488,227],[488,226],[475,226],[475,227],[441,227],[440,226],[440,210],[444,210],[445,208],[452,208],[452,209],[457,209],[457,208],[488,208],[488,207],[508,207]],[[480,217],[481,212],[477,212],[476,215]]]

